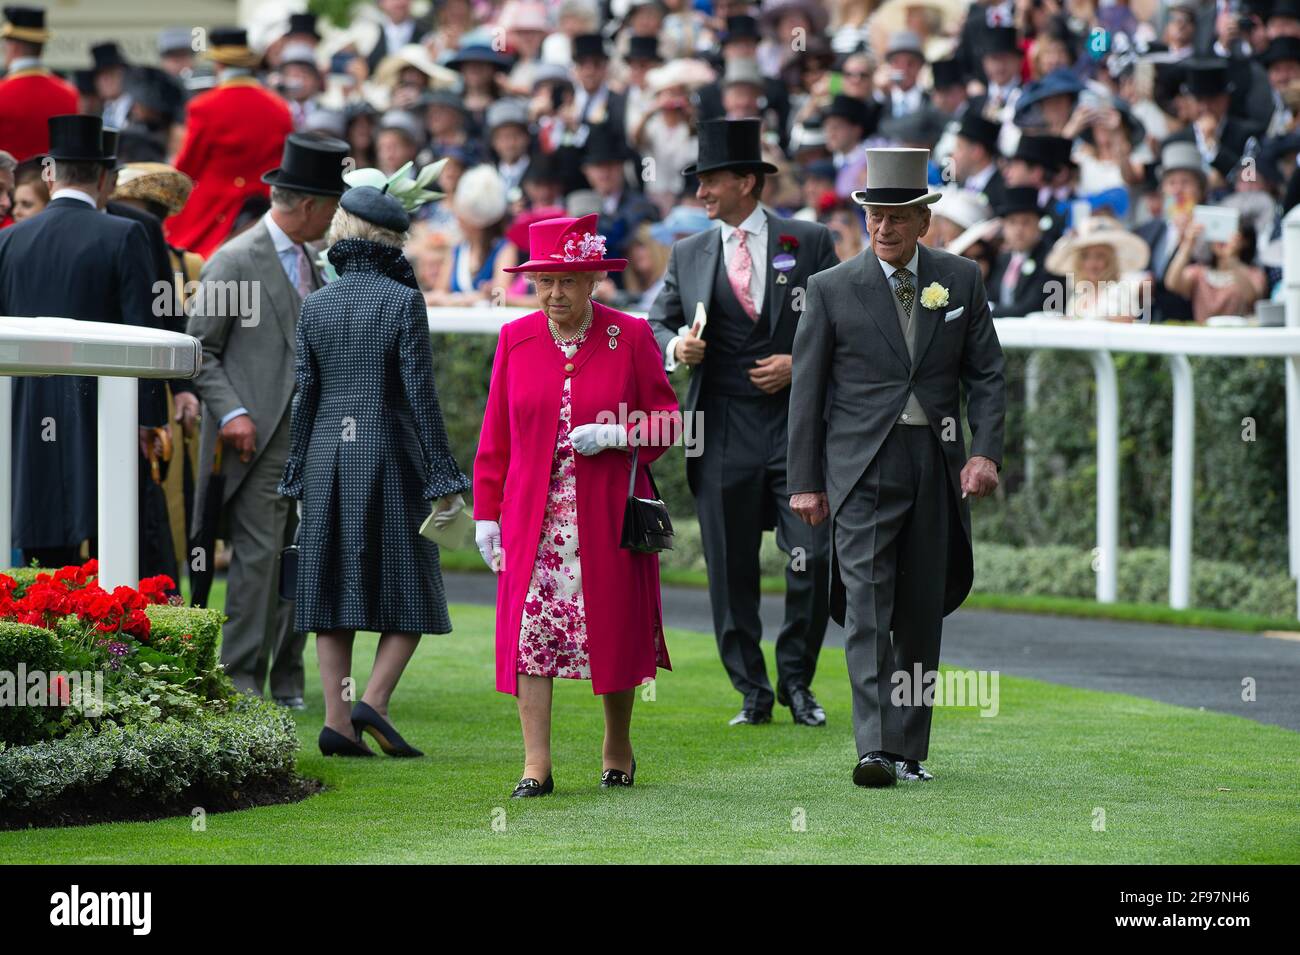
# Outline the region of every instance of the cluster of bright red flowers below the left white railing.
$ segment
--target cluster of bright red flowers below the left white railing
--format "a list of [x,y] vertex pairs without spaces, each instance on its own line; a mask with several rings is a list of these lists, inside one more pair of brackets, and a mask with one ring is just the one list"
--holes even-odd
[[53,629],[68,615],[75,615],[95,633],[148,643],[150,618],[144,608],[168,602],[166,591],[176,586],[172,578],[146,577],[138,590],[122,586],[113,587],[110,594],[95,582],[98,576],[99,561],[88,560],[81,567],[39,574],[16,596],[18,582],[0,574],[0,620]]

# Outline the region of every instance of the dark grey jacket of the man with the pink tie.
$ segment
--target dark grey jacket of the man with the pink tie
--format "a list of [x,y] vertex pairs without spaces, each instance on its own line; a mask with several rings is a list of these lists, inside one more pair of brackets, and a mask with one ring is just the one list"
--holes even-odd
[[[809,279],[824,269],[829,269],[838,259],[835,255],[835,239],[831,231],[818,223],[803,220],[780,218],[767,213],[767,288],[763,311],[771,338],[772,355],[789,355],[794,347],[794,330],[802,318],[803,296]],[[794,252],[794,268],[784,273],[786,281],[776,281],[772,259],[780,252],[780,236],[793,235],[800,247]],[[689,325],[696,316],[696,303],[702,301],[705,311],[712,305],[714,277],[724,268],[723,246],[718,229],[681,239],[672,246],[668,259],[668,272],[663,288],[650,308],[650,327],[654,329],[659,351],[667,350],[676,338],[677,329]],[[797,292],[796,292],[797,290]],[[703,338],[708,340],[708,326]],[[682,412],[688,417],[699,407],[699,394],[705,381],[705,365],[708,363],[708,350],[705,361],[690,370],[690,385],[686,388],[686,401]],[[789,390],[786,390],[786,395]],[[707,426],[707,425],[706,425]],[[698,457],[686,459],[686,478],[692,491],[697,487]]]

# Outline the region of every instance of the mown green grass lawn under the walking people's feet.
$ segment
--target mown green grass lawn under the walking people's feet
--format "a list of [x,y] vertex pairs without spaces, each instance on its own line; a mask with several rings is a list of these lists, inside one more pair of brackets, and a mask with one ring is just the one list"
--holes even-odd
[[[455,605],[393,706],[424,759],[325,759],[308,644],[299,769],[326,791],[294,806],[190,819],[0,833],[10,863],[459,861],[1300,861],[1300,734],[1235,716],[1004,674],[996,717],[936,711],[933,782],[853,786],[842,651],[816,681],[829,726],[731,728],[711,637],[670,631],[633,719],[637,783],[601,790],[601,707],[558,681],[551,798],[511,800],[523,748],[494,686],[490,608]],[[373,637],[358,639],[361,685]],[[1105,813],[1105,830],[1095,819]],[[802,830],[798,822],[802,821]]]

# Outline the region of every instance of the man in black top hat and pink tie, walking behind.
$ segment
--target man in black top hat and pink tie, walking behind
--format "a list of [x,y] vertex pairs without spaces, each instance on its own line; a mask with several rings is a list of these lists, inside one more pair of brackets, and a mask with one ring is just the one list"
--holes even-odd
[[[708,567],[718,650],[744,698],[732,725],[768,722],[774,694],[760,641],[759,561],[763,529],[792,555],[785,570],[785,622],[776,638],[775,702],[796,722],[826,724],[812,673],[827,625],[829,537],[789,508],[785,479],[790,347],[809,277],[833,265],[835,242],[816,222],[777,218],[759,205],[763,175],[776,168],[759,149],[759,120],[699,126],[697,195],[718,229],[672,247],[663,290],[650,309],[664,366],[690,366],[684,411],[702,453],[686,459]],[[697,303],[707,313],[694,325]]]

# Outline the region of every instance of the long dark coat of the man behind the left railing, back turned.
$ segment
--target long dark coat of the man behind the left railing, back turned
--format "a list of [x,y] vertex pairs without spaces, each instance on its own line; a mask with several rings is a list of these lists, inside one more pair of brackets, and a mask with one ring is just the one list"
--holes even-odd
[[[0,314],[160,329],[144,227],[72,197],[0,231]],[[166,424],[160,381],[140,382],[139,424]],[[98,387],[90,377],[18,378],[13,398],[13,537],[68,547],[98,534]],[[55,440],[44,438],[46,421]]]

